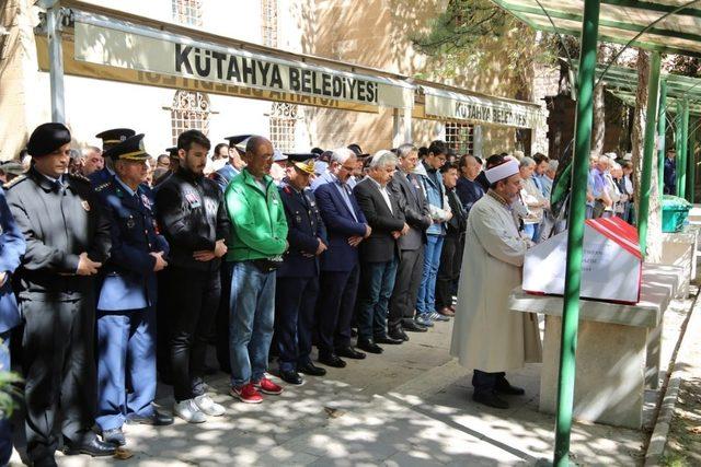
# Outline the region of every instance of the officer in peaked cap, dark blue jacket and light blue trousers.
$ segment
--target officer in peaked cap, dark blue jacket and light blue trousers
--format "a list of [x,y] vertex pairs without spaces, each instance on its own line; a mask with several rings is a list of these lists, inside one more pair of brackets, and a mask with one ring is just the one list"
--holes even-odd
[[[125,422],[163,425],[156,411],[156,272],[168,266],[153,196],[142,184],[149,170],[143,135],[105,152],[115,175],[95,191],[112,220],[112,254],[97,301],[97,424],[102,437],[124,445]],[[128,363],[127,363],[128,362]],[[127,382],[130,394],[127,395]]]

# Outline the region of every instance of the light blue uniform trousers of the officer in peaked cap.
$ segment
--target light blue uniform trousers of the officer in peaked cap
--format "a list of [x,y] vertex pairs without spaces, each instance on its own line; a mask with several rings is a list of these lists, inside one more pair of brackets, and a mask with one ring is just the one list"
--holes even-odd
[[97,311],[97,349],[100,428],[120,428],[130,416],[152,416],[156,310]]

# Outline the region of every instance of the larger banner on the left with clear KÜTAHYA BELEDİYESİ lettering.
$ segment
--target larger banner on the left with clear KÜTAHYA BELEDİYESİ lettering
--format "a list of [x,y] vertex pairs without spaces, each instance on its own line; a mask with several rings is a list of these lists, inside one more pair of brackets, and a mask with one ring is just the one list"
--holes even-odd
[[76,23],[76,60],[152,73],[301,94],[361,105],[411,108],[414,90],[390,79],[291,63],[241,50],[196,46]]

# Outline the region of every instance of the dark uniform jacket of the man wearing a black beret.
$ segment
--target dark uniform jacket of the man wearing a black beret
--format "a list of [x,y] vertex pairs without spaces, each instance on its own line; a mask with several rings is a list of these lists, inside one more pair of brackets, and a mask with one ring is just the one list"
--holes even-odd
[[20,299],[68,301],[92,293],[94,276],[77,276],[79,255],[104,264],[111,248],[108,217],[90,180],[65,174],[62,186],[34,167],[5,185],[12,215],[26,242],[16,272]]

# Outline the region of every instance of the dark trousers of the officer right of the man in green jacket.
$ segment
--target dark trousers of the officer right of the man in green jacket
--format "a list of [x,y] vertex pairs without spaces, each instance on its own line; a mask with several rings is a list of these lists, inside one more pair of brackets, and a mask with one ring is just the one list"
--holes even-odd
[[275,285],[275,343],[281,371],[311,362],[314,307],[319,277],[277,278]]

